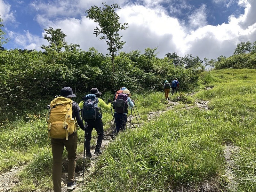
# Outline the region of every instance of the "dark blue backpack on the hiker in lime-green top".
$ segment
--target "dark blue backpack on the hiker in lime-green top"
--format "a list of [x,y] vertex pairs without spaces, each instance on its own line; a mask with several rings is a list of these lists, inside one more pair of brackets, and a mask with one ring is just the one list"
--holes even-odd
[[84,97],[84,105],[82,108],[82,118],[86,119],[100,119],[102,118],[101,109],[98,107],[99,99],[94,94],[88,94]]

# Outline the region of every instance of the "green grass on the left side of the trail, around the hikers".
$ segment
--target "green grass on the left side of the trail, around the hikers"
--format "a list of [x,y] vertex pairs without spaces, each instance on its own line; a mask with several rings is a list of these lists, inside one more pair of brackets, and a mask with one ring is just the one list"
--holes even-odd
[[[154,102],[149,102],[149,98]],[[166,101],[161,92],[134,94],[132,99],[135,99],[142,120],[146,120],[150,111],[166,108]],[[103,109],[102,113],[104,130],[107,131],[112,120],[111,111]],[[41,116],[28,115],[29,118],[24,118],[27,121],[9,122],[0,127],[0,172],[8,171],[14,166],[28,165],[21,173],[21,186],[14,188],[14,191],[33,191],[37,188],[49,190],[52,188],[52,152],[50,140],[47,140],[45,114],[44,111]],[[137,120],[134,119],[132,122],[136,123]],[[83,153],[84,148],[83,137],[84,132],[78,129],[77,152],[80,154]],[[92,132],[92,137],[97,137],[95,130]],[[95,145],[93,142],[92,144]],[[65,150],[64,158],[67,158]],[[82,159],[78,159],[77,167],[82,167],[81,164]]]

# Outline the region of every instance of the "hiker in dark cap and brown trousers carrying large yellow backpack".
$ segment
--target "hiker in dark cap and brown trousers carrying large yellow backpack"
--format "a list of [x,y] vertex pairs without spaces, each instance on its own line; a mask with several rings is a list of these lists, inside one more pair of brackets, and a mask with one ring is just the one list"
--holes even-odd
[[49,106],[50,112],[47,124],[52,144],[52,181],[54,192],[61,192],[62,153],[64,147],[68,152],[67,189],[76,188],[76,122],[83,130],[84,124],[80,117],[81,109],[75,101],[71,100],[72,97],[76,97],[73,94],[73,90],[70,87],[64,87],[60,90],[60,95],[52,100]]

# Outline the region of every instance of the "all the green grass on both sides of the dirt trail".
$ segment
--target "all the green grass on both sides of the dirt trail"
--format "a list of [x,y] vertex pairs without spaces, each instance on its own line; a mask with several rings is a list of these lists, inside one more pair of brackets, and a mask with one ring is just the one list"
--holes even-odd
[[[174,94],[171,100],[180,97],[180,105],[150,122],[148,113],[168,106],[164,93],[132,94],[139,122],[144,125],[122,132],[109,144],[82,190],[206,190],[208,184],[213,191],[255,191],[256,70],[213,70],[203,73],[200,82],[199,88],[211,89],[193,96]],[[195,100],[209,100],[210,110],[184,109]],[[111,111],[103,110],[104,131],[110,129],[111,120]],[[132,123],[137,124],[136,118]],[[27,164],[20,175],[22,184],[13,191],[51,189],[52,154],[44,119],[30,116],[27,122],[8,122],[0,129],[0,172]],[[96,138],[97,133],[92,136]],[[83,142],[84,132],[79,129],[78,154],[83,153]],[[231,151],[235,187],[225,175],[229,166],[225,145],[236,149]],[[77,161],[79,168],[81,159]]]

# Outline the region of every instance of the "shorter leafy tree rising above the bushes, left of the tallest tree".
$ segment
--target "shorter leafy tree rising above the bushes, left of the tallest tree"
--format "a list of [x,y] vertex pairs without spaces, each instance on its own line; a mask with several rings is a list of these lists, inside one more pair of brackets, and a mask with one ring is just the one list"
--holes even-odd
[[46,32],[44,34],[44,39],[46,39],[50,45],[46,46],[43,44],[40,47],[44,50],[46,50],[47,48],[53,48],[56,52],[59,53],[61,49],[67,44],[67,42],[65,41],[65,37],[67,35],[63,33],[60,28],[44,28],[44,31]]

